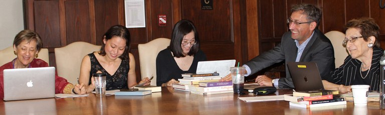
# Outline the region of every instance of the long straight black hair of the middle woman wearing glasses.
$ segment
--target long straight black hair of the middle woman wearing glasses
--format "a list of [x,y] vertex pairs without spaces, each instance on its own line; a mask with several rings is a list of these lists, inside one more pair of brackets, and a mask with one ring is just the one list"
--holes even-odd
[[196,27],[194,26],[194,23],[189,20],[180,20],[176,22],[174,28],[172,29],[172,35],[171,35],[171,42],[168,48],[171,50],[171,52],[174,54],[174,57],[184,57],[183,50],[181,47],[183,37],[190,33],[191,31],[194,31],[195,36],[195,42],[196,44],[193,45],[193,47],[190,48],[190,51],[187,53],[187,55],[195,55],[198,50],[200,49],[200,40],[198,36],[198,32]]

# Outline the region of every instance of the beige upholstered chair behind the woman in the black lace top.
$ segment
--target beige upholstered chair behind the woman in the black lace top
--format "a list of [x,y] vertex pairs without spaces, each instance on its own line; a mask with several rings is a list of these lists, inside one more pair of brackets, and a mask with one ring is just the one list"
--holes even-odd
[[58,75],[72,84],[77,84],[83,57],[94,51],[99,51],[100,47],[100,45],[78,41],[61,48],[55,48]]

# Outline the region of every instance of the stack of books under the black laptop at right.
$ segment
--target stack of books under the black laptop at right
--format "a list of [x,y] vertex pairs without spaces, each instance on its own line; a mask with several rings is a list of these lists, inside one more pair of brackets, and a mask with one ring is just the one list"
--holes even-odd
[[300,108],[346,105],[346,101],[337,95],[338,91],[330,90],[319,92],[293,92],[293,95],[284,95],[284,100],[289,101],[290,106]]

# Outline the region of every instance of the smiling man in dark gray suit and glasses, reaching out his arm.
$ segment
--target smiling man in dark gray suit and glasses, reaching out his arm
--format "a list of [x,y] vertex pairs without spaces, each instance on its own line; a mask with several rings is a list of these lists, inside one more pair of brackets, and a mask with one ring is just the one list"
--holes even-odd
[[[282,36],[281,43],[272,50],[262,53],[247,62],[249,76],[275,63],[287,62],[316,62],[321,77],[327,76],[334,69],[334,50],[330,40],[318,30],[321,20],[321,10],[311,4],[297,4],[291,9],[287,18],[289,32]],[[231,76],[221,81],[228,81]],[[276,88],[294,88],[288,68],[286,78],[271,79],[260,75],[255,80],[260,85],[275,86]]]

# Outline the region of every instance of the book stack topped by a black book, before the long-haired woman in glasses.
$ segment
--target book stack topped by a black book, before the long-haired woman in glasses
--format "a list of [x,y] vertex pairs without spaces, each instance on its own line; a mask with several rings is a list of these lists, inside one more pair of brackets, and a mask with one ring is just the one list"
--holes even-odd
[[172,84],[175,90],[189,92],[188,86],[198,86],[200,82],[218,82],[222,77],[219,73],[207,74],[182,74],[183,79],[178,79],[179,84]]

